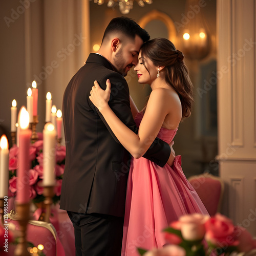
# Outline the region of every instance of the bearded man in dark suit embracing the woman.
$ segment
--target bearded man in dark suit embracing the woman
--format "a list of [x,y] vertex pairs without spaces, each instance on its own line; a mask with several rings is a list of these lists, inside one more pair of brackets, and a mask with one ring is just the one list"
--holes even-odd
[[[149,38],[130,18],[112,19],[99,52],[89,55],[86,65],[71,79],[63,96],[67,151],[60,208],[68,211],[73,222],[76,255],[121,254],[130,154],[89,95],[95,80],[105,89],[106,79],[110,79],[109,104],[123,123],[136,132],[129,88],[123,76],[136,65],[140,47]],[[172,158],[169,145],[159,139],[143,157],[160,166]]]

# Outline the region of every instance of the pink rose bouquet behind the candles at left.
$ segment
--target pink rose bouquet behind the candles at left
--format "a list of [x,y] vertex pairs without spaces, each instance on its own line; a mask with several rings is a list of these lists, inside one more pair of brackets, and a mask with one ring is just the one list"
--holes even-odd
[[[31,166],[29,170],[29,186],[30,186],[30,199],[34,203],[39,203],[45,200],[42,195],[44,188],[42,187],[42,140],[38,140],[30,145],[29,158],[31,161]],[[60,190],[62,184],[62,178],[65,167],[66,158],[66,147],[56,145],[56,165],[55,165],[55,196],[53,197],[53,202],[57,203],[60,200]],[[18,147],[14,145],[10,148],[9,153],[9,196],[16,196],[16,183],[17,183],[17,168],[18,168]]]

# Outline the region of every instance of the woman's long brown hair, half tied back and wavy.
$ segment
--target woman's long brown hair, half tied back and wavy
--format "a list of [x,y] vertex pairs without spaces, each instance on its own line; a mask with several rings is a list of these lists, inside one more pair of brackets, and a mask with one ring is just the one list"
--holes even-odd
[[159,37],[147,41],[142,45],[141,57],[142,59],[145,57],[151,59],[154,66],[165,67],[165,81],[180,97],[182,117],[189,117],[194,102],[193,84],[189,78],[188,69],[183,60],[183,53],[176,50],[171,41]]

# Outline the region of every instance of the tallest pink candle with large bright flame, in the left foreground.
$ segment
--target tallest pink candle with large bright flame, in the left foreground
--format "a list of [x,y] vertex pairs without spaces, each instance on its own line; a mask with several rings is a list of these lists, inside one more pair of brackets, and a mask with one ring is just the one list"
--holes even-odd
[[29,127],[29,113],[23,106],[19,113],[19,166],[17,170],[17,196],[16,202],[19,204],[29,203],[30,185],[29,185],[29,146],[31,130]]

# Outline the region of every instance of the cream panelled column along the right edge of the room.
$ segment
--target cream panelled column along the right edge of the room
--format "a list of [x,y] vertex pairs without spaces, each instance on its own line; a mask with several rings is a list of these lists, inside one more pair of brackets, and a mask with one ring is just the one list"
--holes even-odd
[[223,213],[256,236],[256,4],[218,0],[218,141]]

